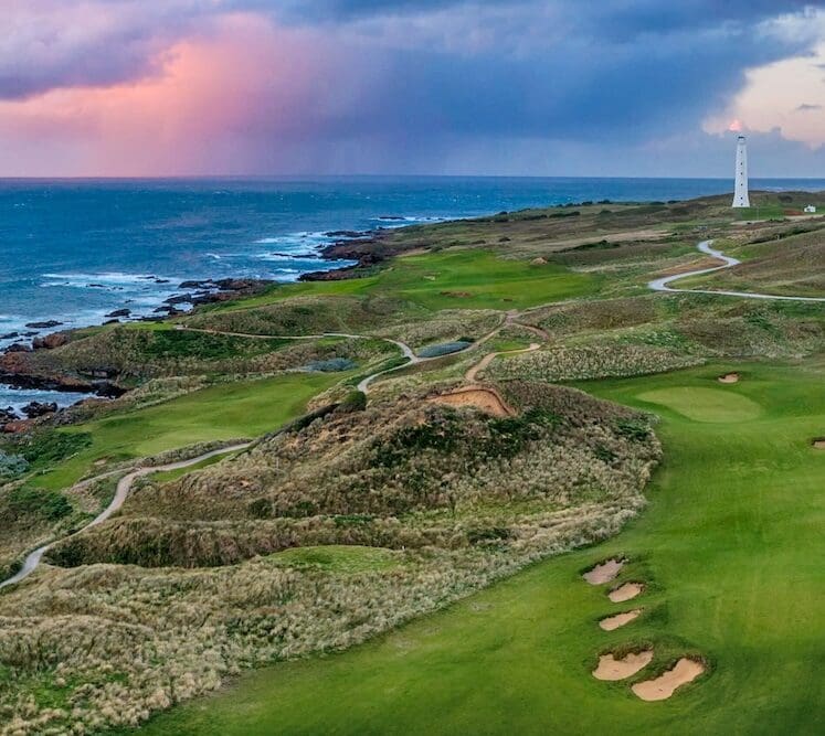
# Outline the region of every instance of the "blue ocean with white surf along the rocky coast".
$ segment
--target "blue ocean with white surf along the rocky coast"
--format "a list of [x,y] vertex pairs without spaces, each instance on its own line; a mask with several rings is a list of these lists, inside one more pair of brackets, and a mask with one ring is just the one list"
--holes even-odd
[[[757,180],[821,190],[825,180]],[[720,179],[298,178],[0,180],[0,350],[34,333],[150,314],[181,281],[293,281],[330,268],[335,231],[472,217],[582,201],[684,200],[732,191]],[[57,328],[28,323],[57,321]],[[15,334],[17,333],[17,334]],[[21,337],[22,335],[22,337]],[[0,408],[73,394],[0,385]]]

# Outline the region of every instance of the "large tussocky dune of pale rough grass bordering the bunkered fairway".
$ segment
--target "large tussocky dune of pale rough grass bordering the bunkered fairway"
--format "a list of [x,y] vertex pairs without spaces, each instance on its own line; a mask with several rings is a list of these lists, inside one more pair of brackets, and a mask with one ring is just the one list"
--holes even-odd
[[659,457],[644,415],[546,384],[507,395],[516,417],[422,401],[327,414],[136,490],[53,547],[80,567],[0,596],[9,733],[137,725],[226,674],[346,649],[615,534]]

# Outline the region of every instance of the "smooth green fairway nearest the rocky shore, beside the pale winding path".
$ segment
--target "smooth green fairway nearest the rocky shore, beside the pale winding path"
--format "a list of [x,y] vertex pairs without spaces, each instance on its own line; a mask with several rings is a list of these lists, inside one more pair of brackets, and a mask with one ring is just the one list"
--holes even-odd
[[313,396],[346,376],[313,373],[222,384],[73,426],[61,433],[89,433],[92,444],[32,483],[66,488],[99,459],[139,458],[197,442],[257,437],[299,416]]

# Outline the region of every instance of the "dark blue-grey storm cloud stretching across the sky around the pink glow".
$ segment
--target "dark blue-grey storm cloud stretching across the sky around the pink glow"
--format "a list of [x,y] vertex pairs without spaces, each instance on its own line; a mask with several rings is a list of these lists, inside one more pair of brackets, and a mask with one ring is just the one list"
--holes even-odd
[[[0,100],[159,83],[186,49],[214,44],[243,70],[225,93],[243,116],[209,142],[246,136],[272,166],[349,150],[385,171],[402,150],[530,141],[602,141],[610,156],[700,130],[749,70],[813,54],[821,19],[781,0],[6,0]],[[257,46],[225,43],[250,24]]]

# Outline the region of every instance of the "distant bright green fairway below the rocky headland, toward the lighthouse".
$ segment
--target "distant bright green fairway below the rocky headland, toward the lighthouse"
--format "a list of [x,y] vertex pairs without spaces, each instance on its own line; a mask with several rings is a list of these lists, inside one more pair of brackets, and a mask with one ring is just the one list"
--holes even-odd
[[276,287],[220,309],[248,309],[297,296],[385,295],[427,309],[514,309],[594,294],[595,276],[563,266],[533,266],[489,250],[449,249],[403,256],[377,276]]

